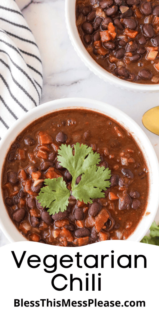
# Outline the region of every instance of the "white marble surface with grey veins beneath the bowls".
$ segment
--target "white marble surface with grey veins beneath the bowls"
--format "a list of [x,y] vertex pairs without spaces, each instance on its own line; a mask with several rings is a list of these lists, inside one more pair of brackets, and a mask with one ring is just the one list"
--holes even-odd
[[[71,0],[70,0],[71,1]],[[74,51],[66,31],[65,0],[16,0],[41,52],[44,85],[41,104],[65,97],[87,97],[105,101],[133,118],[149,137],[159,159],[159,136],[146,130],[142,115],[159,105],[159,93],[134,93],[99,79]],[[156,215],[159,221],[159,211]],[[8,241],[0,232],[0,246]]]

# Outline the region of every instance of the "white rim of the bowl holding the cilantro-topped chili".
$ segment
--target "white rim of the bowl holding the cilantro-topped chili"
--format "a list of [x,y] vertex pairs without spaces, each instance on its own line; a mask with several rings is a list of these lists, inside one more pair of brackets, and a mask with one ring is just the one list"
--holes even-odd
[[[128,115],[124,114],[118,108],[115,108],[111,105],[103,103],[101,101],[85,99],[85,98],[66,98],[60,100],[53,100],[43,105],[40,105],[28,113],[26,113],[22,118],[18,119],[16,123],[8,129],[7,134],[0,142],[0,175],[2,176],[3,162],[6,157],[7,151],[10,147],[10,144],[14,142],[17,135],[27,127],[35,119],[53,112],[57,109],[66,109],[69,108],[89,108],[96,110],[97,112],[106,114],[115,121],[119,122],[123,127],[125,127],[135,138],[135,141],[139,145],[142,153],[145,157],[146,164],[149,169],[149,197],[148,205],[142,220],[136,227],[134,233],[129,236],[128,240],[131,241],[140,241],[143,236],[148,231],[150,225],[152,224],[158,204],[159,204],[159,164],[156,157],[156,153],[145,133],[142,129],[133,121]],[[26,239],[11,221],[4,202],[2,191],[0,192],[0,227],[10,242],[25,241]],[[148,213],[147,213],[148,212]]]

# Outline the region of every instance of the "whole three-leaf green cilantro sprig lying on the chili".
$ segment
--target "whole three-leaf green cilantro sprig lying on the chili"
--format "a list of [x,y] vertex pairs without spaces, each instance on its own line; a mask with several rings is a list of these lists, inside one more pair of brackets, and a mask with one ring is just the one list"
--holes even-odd
[[[62,144],[57,156],[60,165],[66,168],[72,175],[72,190],[67,189],[66,182],[62,177],[45,179],[45,186],[41,188],[37,200],[48,208],[49,214],[59,211],[64,212],[69,204],[69,197],[72,194],[76,200],[92,203],[93,199],[104,197],[102,190],[110,187],[109,179],[111,170],[98,167],[100,155],[93,152],[91,147],[77,142],[73,148],[70,145]],[[81,175],[79,184],[76,179]]]

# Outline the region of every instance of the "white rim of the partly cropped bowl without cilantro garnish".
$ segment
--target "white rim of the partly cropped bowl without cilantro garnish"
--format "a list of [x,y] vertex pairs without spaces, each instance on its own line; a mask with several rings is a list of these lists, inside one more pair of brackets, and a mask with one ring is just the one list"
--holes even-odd
[[76,0],[65,0],[65,17],[67,31],[75,51],[77,52],[81,60],[85,63],[85,65],[90,69],[90,71],[92,71],[95,75],[98,75],[101,79],[104,79],[106,82],[109,82],[109,84],[113,84],[117,87],[120,87],[121,89],[127,89],[129,91],[140,93],[159,92],[159,84],[148,85],[128,82],[107,72],[95,62],[95,60],[87,52],[79,37],[79,33],[76,27],[75,4]]

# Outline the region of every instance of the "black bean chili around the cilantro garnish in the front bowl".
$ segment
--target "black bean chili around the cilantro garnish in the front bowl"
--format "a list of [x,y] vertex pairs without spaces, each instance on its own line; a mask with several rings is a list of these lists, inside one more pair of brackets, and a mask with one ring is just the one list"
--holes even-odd
[[[86,144],[100,154],[98,166],[111,170],[110,187],[92,204],[70,194],[64,212],[49,215],[37,196],[44,179],[63,177],[71,191],[72,175],[57,159],[61,145]],[[76,184],[80,183],[81,175]],[[104,114],[66,109],[33,121],[11,144],[4,161],[3,198],[18,231],[30,241],[81,246],[127,239],[146,210],[149,172],[133,136]]]

